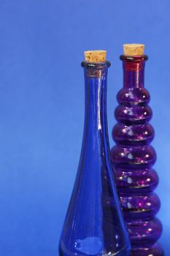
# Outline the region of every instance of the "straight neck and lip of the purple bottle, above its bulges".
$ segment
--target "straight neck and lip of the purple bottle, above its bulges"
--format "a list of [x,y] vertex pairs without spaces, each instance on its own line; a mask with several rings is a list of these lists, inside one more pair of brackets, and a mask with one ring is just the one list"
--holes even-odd
[[121,55],[120,59],[123,61],[123,87],[126,89],[144,87],[144,64],[148,59],[147,55]]

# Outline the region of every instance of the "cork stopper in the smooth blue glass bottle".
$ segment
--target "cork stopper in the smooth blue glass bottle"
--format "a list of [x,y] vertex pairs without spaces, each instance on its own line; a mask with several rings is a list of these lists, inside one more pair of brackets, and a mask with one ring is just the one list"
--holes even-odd
[[85,52],[85,61],[87,62],[105,62],[107,59],[106,50],[86,50]]

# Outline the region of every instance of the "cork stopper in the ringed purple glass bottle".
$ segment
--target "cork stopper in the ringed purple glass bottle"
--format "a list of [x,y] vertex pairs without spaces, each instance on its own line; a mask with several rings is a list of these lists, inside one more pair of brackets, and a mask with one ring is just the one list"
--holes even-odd
[[123,49],[125,56],[141,56],[144,54],[144,45],[142,44],[125,44]]

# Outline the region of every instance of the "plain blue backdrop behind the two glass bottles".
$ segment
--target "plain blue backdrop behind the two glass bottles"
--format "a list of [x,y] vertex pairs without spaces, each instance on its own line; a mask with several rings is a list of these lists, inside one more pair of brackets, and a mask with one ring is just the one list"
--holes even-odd
[[169,254],[170,1],[0,0],[0,255],[58,255],[84,121],[83,50],[107,49],[115,124],[125,42],[146,44],[160,176],[161,243]]

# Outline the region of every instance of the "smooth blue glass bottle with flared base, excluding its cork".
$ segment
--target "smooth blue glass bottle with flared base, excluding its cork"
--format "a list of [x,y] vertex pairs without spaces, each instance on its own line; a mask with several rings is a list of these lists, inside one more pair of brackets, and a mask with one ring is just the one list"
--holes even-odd
[[60,256],[128,256],[130,244],[115,189],[107,134],[109,61],[83,61],[85,126],[77,177],[63,225]]

